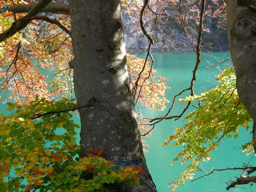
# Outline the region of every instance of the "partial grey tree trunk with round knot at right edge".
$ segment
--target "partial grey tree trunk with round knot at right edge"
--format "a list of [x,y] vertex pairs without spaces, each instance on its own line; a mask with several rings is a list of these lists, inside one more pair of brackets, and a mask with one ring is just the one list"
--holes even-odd
[[256,9],[253,2],[226,0],[228,42],[236,71],[237,93],[252,116],[253,140],[256,141]]

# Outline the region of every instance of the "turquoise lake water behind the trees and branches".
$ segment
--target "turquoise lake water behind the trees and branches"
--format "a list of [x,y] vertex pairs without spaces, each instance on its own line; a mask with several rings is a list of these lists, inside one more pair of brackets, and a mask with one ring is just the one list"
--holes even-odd
[[[167,84],[172,89],[167,90],[166,98],[168,100],[172,100],[174,95],[179,93],[184,88],[189,87],[192,77],[192,70],[196,62],[196,54],[194,52],[153,52],[152,54],[156,60],[154,64],[154,69],[157,70],[155,76],[169,78]],[[225,55],[228,55],[228,53],[214,52],[212,56],[219,58],[219,60],[225,60]],[[137,56],[144,58],[145,53],[138,53]],[[208,60],[212,64],[218,64],[218,61],[216,61],[212,56],[203,56],[203,60]],[[209,66],[209,63],[205,62],[205,64]],[[215,77],[212,76],[205,68],[202,68],[204,67],[202,64],[200,64],[200,66],[201,68],[199,68],[197,72],[197,81],[195,82],[195,94],[209,90],[216,84]],[[220,67],[223,68],[223,64],[221,64]],[[215,74],[219,74],[217,69],[211,68],[210,70]],[[189,92],[187,94],[183,94],[182,96],[184,98],[188,95]],[[173,111],[170,115],[179,114],[185,106],[180,104],[180,102],[175,103],[175,105],[176,107],[173,108]],[[167,103],[166,108],[168,109],[169,106],[169,103]],[[7,108],[6,105],[1,104],[0,107],[0,112],[3,112],[6,115],[8,113],[6,110],[4,110]],[[141,109],[145,117],[155,117],[165,114],[165,112],[156,112],[146,108]],[[193,107],[190,108],[190,110],[194,109],[195,108]],[[77,123],[78,122],[79,121],[77,120]],[[172,166],[170,166],[172,159],[180,152],[182,146],[168,145],[165,148],[162,147],[162,144],[168,138],[168,136],[173,134],[174,130],[183,124],[185,124],[185,122],[182,118],[177,121],[165,120],[157,124],[151,133],[151,138],[146,139],[150,147],[147,148],[148,153],[146,153],[145,156],[147,159],[149,171],[157,186],[158,192],[171,191],[171,188],[167,187],[168,183],[172,183],[172,181],[178,178],[180,173],[186,167],[186,164],[181,166],[180,161],[175,162]],[[206,174],[206,172],[211,172],[212,167],[215,169],[223,169],[226,167],[241,167],[243,163],[248,162],[252,158],[252,155],[245,156],[245,154],[242,154],[241,149],[239,149],[243,143],[251,140],[250,132],[246,132],[244,129],[241,129],[239,132],[240,137],[238,139],[225,139],[220,143],[218,149],[211,154],[212,159],[209,161],[209,163],[202,163],[202,166],[199,165],[203,171],[197,172],[195,178]],[[255,159],[251,161],[251,164],[253,163],[256,163]],[[226,191],[227,187],[225,182],[228,182],[229,180],[236,180],[235,177],[239,177],[240,174],[241,171],[215,172],[214,174],[199,179],[194,183],[186,180],[185,186],[178,187],[176,191],[224,192]],[[231,188],[229,191],[247,192],[253,189],[256,189],[254,185],[252,187],[249,185],[244,185]]]

